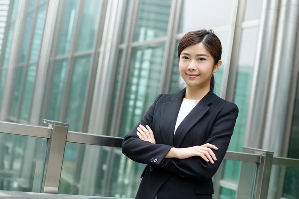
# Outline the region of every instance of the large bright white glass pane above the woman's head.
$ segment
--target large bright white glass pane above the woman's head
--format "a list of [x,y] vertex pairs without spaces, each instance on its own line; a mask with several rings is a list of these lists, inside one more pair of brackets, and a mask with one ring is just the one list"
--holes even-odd
[[228,26],[234,2],[234,0],[183,0],[178,33]]

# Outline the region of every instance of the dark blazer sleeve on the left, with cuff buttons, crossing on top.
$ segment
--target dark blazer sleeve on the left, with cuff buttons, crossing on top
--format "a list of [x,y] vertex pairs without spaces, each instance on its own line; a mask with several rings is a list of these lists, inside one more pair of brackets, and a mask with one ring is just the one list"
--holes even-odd
[[164,161],[164,157],[172,148],[172,146],[152,144],[141,140],[136,134],[137,127],[140,124],[143,126],[149,125],[149,127],[152,128],[155,105],[161,96],[162,94],[155,99],[154,103],[149,107],[146,114],[142,117],[141,121],[135,126],[131,133],[124,137],[122,153],[135,162],[158,166]]

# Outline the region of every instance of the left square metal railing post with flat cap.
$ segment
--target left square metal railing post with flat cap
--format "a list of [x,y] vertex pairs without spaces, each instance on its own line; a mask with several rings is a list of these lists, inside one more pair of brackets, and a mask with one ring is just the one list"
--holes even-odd
[[47,150],[42,191],[57,194],[69,125],[50,120],[43,120],[43,123],[52,128],[52,134]]

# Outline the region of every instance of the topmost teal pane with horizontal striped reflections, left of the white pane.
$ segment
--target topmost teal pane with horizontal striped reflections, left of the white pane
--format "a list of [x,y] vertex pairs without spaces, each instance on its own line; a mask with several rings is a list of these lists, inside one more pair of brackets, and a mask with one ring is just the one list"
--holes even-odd
[[141,0],[134,41],[149,41],[167,35],[171,0]]

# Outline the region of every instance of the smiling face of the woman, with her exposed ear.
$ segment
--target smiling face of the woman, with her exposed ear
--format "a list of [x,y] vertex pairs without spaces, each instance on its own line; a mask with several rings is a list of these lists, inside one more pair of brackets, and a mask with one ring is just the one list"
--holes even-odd
[[179,72],[187,86],[191,87],[209,86],[213,73],[220,65],[221,60],[214,65],[214,59],[203,43],[188,46],[179,57]]

